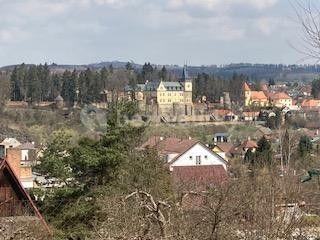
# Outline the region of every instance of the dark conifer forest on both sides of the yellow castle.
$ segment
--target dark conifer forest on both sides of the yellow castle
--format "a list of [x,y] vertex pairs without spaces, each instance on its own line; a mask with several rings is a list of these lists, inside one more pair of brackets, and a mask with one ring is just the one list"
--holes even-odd
[[[114,69],[112,65],[101,69],[51,71],[47,64],[16,66],[8,80],[1,81],[13,101],[42,102],[53,101],[61,95],[70,106],[75,101],[80,104],[102,100],[101,93],[122,91],[126,85],[148,81],[177,81],[180,75],[170,72],[165,66],[157,68],[145,63],[141,69],[134,69],[130,63],[125,68]],[[5,78],[5,74],[4,74]],[[234,73],[231,77],[213,74],[198,74],[194,77],[194,99],[207,96],[209,101],[218,100],[224,91],[230,92],[233,100],[241,96],[241,86],[247,80],[245,75]],[[8,82],[9,81],[9,82]],[[8,82],[6,84],[6,82]]]

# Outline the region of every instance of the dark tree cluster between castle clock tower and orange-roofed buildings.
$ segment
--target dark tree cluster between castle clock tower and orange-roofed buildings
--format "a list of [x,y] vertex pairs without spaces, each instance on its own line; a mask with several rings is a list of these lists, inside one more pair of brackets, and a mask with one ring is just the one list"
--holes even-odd
[[194,98],[206,96],[210,102],[218,101],[223,92],[229,92],[232,101],[242,98],[242,85],[248,77],[234,73],[231,78],[209,74],[199,74],[194,80]]

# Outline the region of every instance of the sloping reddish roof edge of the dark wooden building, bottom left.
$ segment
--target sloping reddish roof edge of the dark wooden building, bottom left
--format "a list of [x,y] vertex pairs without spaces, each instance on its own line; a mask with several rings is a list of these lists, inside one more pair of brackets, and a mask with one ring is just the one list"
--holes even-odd
[[47,225],[46,221],[42,217],[41,213],[39,212],[38,208],[32,201],[31,197],[29,194],[26,192],[26,190],[23,188],[22,183],[20,182],[19,178],[13,171],[12,167],[8,163],[8,161],[5,158],[0,159],[0,171],[7,170],[10,177],[13,179],[13,182],[15,186],[17,187],[17,190],[21,194],[21,196],[26,200],[26,202],[29,204],[29,207],[33,210],[34,214],[39,218],[41,221],[42,225],[48,230],[49,233],[51,233],[49,226]]

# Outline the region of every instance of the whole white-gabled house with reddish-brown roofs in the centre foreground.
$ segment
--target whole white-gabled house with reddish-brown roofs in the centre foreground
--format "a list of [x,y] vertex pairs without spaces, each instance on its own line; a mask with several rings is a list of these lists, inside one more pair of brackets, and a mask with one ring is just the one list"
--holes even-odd
[[159,152],[176,183],[181,179],[213,184],[226,179],[227,161],[199,141],[154,136],[139,147],[141,150],[147,148],[154,148]]

